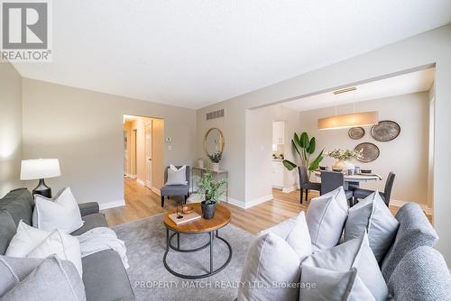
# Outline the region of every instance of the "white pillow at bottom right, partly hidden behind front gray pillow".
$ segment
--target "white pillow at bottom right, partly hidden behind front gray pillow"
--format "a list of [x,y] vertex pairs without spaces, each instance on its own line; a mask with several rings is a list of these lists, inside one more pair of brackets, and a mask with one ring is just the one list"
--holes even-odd
[[303,267],[304,265],[338,272],[347,272],[356,268],[357,275],[372,293],[374,299],[376,301],[387,299],[388,287],[373,251],[370,249],[367,233],[360,238],[311,255],[302,262]]

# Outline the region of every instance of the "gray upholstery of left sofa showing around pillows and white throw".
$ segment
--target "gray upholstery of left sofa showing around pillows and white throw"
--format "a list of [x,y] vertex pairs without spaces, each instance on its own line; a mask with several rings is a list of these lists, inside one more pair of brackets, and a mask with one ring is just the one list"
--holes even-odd
[[[11,214],[17,226],[20,220],[32,224],[34,202],[30,191],[18,188],[0,199],[0,211]],[[80,213],[84,225],[71,233],[79,235],[95,227],[106,227],[104,214],[99,213],[97,203],[80,204]],[[0,220],[0,228],[2,221]],[[5,254],[5,247],[11,240],[11,232],[0,229],[0,254]],[[3,247],[2,247],[3,246]],[[3,250],[2,250],[3,249]],[[133,300],[133,289],[122,260],[113,250],[99,251],[82,259],[83,283],[88,301]],[[1,270],[2,267],[0,267]]]

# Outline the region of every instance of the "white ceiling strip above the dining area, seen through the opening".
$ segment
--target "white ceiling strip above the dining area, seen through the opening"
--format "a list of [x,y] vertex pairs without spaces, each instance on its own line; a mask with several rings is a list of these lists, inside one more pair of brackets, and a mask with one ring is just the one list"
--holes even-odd
[[315,96],[299,98],[281,105],[296,111],[308,111],[322,107],[358,103],[390,96],[428,91],[434,82],[435,68],[384,78],[356,87],[354,91],[337,94],[327,92]]

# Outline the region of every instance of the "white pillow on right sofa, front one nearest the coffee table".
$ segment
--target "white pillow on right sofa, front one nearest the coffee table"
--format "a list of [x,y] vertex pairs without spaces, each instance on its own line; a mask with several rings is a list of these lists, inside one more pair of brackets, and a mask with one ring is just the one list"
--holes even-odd
[[298,301],[299,264],[281,237],[271,232],[257,237],[247,253],[238,301]]

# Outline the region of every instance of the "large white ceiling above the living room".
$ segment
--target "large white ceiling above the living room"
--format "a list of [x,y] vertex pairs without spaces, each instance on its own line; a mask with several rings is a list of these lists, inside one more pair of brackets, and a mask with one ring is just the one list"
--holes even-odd
[[449,0],[59,0],[23,77],[199,108],[451,22]]

